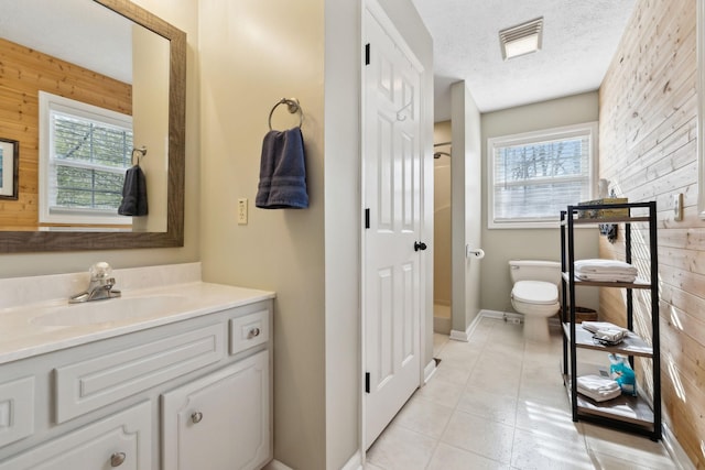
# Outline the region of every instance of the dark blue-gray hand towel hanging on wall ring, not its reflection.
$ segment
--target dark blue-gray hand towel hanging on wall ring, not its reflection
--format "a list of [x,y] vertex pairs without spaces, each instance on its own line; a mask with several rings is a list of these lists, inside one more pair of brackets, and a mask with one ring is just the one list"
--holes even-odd
[[262,142],[254,205],[262,209],[306,208],[306,162],[300,128],[269,131]]

